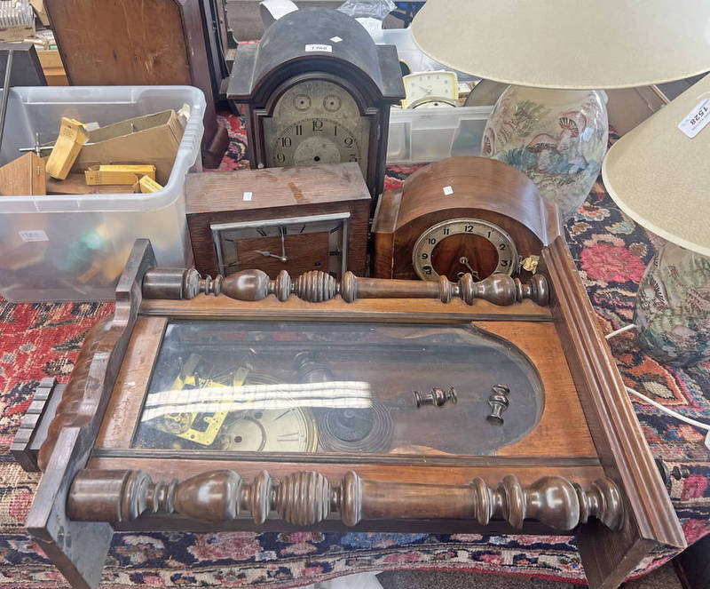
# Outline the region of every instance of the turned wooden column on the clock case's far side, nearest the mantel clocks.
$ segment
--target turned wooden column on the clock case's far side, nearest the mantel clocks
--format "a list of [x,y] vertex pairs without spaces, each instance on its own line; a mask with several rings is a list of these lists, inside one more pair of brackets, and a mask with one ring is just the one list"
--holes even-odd
[[509,275],[490,275],[485,280],[475,282],[473,276],[465,274],[458,283],[451,283],[446,276],[438,282],[419,280],[389,280],[383,278],[359,278],[351,272],[336,281],[333,276],[320,270],[312,270],[292,280],[286,270],[281,270],[275,280],[261,270],[241,270],[223,278],[213,280],[201,278],[194,270],[177,272],[173,268],[154,268],[146,273],[143,294],[146,298],[193,298],[200,292],[225,295],[237,300],[262,300],[270,294],[280,301],[289,296],[319,303],[340,295],[347,303],[359,298],[438,298],[448,303],[452,298],[461,298],[473,305],[477,298],[494,305],[513,305],[530,298],[538,305],[549,302],[548,282],[543,275],[534,275],[530,282],[523,284]]

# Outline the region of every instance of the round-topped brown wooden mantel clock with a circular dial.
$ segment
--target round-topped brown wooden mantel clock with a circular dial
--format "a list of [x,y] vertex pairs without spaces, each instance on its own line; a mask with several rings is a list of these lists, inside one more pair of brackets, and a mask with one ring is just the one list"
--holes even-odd
[[461,156],[424,166],[384,193],[372,231],[375,276],[455,281],[467,273],[532,275],[560,226],[524,173]]

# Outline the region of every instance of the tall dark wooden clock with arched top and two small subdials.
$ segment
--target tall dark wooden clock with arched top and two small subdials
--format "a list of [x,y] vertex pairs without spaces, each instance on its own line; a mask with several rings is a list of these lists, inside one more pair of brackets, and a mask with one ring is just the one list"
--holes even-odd
[[405,97],[397,51],[357,20],[309,8],[241,44],[227,97],[245,105],[253,168],[359,163],[382,192],[390,106]]

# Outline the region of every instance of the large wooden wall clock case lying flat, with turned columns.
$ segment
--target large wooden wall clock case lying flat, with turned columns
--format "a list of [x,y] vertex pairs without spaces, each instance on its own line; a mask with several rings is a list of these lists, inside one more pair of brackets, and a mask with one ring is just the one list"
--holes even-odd
[[[564,239],[556,226],[546,237],[538,275],[525,285],[503,275],[485,283],[351,273],[336,283],[285,272],[269,280],[258,271],[201,278],[156,268],[150,243],[138,240],[114,315],[87,335],[61,402],[51,383],[43,386],[12,446],[19,461],[43,470],[28,531],[77,589],[99,584],[114,529],[574,534],[589,585],[618,586],[655,547],[685,541]],[[522,440],[479,456],[136,448],[131,436],[166,326],[181,320],[189,329],[217,320],[227,331],[233,322],[294,333],[308,322],[344,333],[361,322],[465,330],[525,355],[544,386],[544,410]],[[475,378],[475,354],[466,358],[464,374]],[[412,370],[449,377],[436,366]],[[380,390],[408,378],[406,370],[372,374],[384,379]],[[408,415],[427,429],[464,407],[461,391],[449,413],[414,409],[410,394]],[[432,443],[465,442],[475,427],[443,426]]]

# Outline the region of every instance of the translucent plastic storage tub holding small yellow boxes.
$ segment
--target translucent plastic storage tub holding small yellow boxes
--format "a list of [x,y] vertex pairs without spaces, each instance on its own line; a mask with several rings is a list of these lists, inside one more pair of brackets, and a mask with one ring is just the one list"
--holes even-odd
[[103,126],[175,110],[191,115],[165,187],[145,195],[0,196],[0,295],[13,302],[108,300],[138,237],[162,266],[192,264],[185,176],[201,171],[205,98],[192,86],[13,88],[0,165],[19,147],[53,141],[62,116]]

